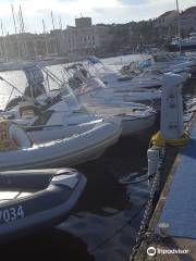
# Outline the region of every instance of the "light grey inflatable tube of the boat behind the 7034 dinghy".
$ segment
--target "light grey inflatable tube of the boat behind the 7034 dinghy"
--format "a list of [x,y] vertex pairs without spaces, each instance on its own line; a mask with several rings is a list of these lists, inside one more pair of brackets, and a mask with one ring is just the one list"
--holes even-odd
[[94,160],[117,142],[121,135],[119,121],[95,122],[89,130],[30,148],[0,152],[0,170],[26,170],[71,166]]

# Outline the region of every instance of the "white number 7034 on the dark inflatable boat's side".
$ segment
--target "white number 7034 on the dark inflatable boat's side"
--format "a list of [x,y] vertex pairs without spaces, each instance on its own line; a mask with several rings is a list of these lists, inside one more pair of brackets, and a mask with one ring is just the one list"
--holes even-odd
[[22,206],[15,208],[0,210],[0,223],[9,223],[24,217]]

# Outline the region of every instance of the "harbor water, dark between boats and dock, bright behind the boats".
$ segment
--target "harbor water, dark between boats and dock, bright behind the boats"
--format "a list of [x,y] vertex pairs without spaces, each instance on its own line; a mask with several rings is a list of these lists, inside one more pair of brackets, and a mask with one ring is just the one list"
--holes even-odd
[[[118,69],[139,58],[126,55],[103,62]],[[57,73],[59,66],[51,70]],[[24,90],[22,72],[0,75]],[[1,109],[10,90],[2,82]],[[196,105],[194,80],[184,88],[184,101],[186,121]],[[87,186],[71,215],[56,228],[36,231],[34,235],[1,245],[1,254],[7,260],[36,260],[42,254],[45,260],[128,260],[149,196],[146,152],[156,130],[155,126],[143,136],[122,138],[99,160],[75,166],[87,176]]]

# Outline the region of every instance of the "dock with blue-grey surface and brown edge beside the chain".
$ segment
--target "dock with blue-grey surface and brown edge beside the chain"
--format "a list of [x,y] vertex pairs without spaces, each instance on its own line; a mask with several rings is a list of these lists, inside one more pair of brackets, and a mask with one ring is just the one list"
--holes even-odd
[[[147,231],[154,236],[143,240],[136,261],[196,260],[195,113],[188,128],[191,139],[185,147],[167,148],[161,173],[166,184]],[[160,224],[167,225],[164,236],[161,236]]]

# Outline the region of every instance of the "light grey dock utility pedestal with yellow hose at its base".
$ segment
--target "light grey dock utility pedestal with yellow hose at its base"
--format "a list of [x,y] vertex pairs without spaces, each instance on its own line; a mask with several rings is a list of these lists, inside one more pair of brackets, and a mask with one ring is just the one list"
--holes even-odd
[[161,97],[161,124],[151,139],[151,148],[148,149],[148,175],[151,179],[159,166],[161,148],[168,142],[177,145],[183,137],[183,102],[182,102],[183,77],[176,74],[164,74]]

